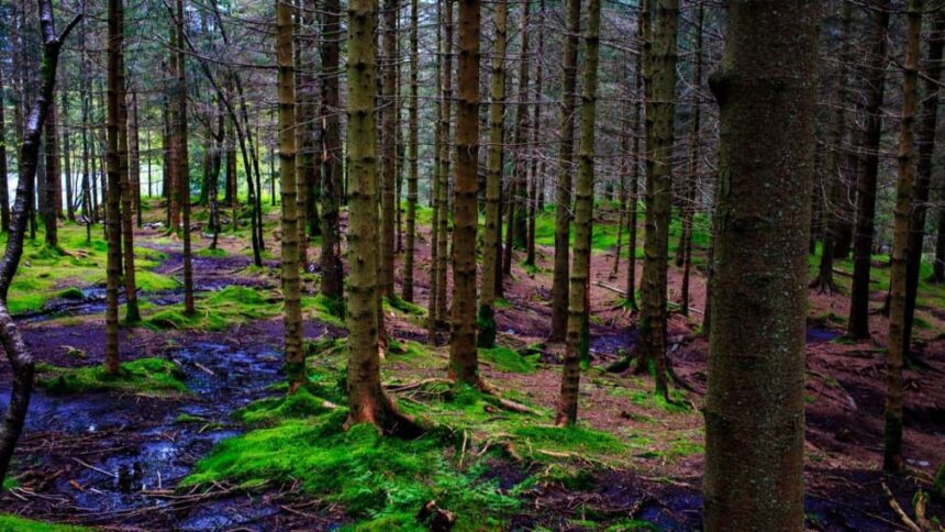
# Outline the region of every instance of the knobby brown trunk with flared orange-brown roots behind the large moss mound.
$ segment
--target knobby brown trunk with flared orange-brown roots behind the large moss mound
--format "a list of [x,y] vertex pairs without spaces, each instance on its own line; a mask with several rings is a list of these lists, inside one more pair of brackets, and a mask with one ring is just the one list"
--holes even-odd
[[380,384],[377,330],[377,131],[375,64],[377,0],[348,3],[348,342],[345,426],[373,423],[388,433],[415,429]]

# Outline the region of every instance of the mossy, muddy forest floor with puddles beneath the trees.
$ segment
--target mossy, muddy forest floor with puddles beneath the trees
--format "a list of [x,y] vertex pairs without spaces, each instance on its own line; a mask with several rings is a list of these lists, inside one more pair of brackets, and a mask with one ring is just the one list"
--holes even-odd
[[[513,261],[497,306],[500,347],[480,351],[486,380],[532,410],[514,412],[445,385],[445,334],[440,347],[426,346],[429,211],[422,210],[416,306],[387,308],[392,341],[382,374],[401,409],[430,430],[415,442],[391,442],[342,432],[343,407],[325,402],[344,404],[345,331],[316,293],[318,268],[303,276],[312,386],[285,399],[277,212],[267,215],[262,268],[252,265],[246,230],[222,234],[215,252],[205,235],[194,239],[198,312],[186,317],[180,243],[154,224],[162,218],[156,206],[136,233],[143,321],[121,330],[119,379],[96,373],[104,355],[100,228],[87,245],[85,229],[66,224],[69,256],[27,244],[10,306],[41,363],[40,385],[0,496],[0,530],[48,527],[14,516],[66,530],[424,528],[442,516],[418,517],[433,499],[462,530],[701,527],[704,234],[696,239],[692,311],[674,313],[668,331],[672,366],[692,391],[676,389],[666,402],[653,396],[648,376],[604,370],[632,346],[636,317],[616,291],[625,287],[625,257],[612,274],[614,217],[599,214],[591,365],[582,375],[580,424],[565,430],[551,425],[563,353],[546,343],[552,217],[540,220],[536,267],[523,267],[523,255]],[[313,264],[318,251],[312,243]],[[401,264],[399,256],[398,286]],[[849,268],[837,263],[841,271]],[[874,277],[879,308],[885,264],[877,263]],[[680,279],[670,266],[672,301]],[[921,286],[914,363],[905,370],[908,472],[889,478],[879,470],[887,320],[871,317],[872,341],[846,341],[849,279],[836,279],[838,293],[812,289],[810,298],[807,524],[904,529],[883,486],[911,514],[913,497],[932,490],[945,461],[945,287]],[[9,383],[3,365],[0,402]],[[945,501],[933,496],[926,514],[945,521]]]

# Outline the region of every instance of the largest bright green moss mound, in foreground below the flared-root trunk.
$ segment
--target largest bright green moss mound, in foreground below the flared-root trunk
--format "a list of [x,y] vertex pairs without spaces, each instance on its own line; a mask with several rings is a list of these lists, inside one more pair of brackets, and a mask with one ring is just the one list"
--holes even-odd
[[468,455],[465,468],[454,462],[458,442],[446,431],[404,441],[370,425],[344,431],[346,417],[337,409],[224,440],[182,486],[298,481],[312,496],[343,505],[367,529],[420,528],[414,516],[430,500],[454,511],[460,530],[500,528],[519,507],[481,478],[485,462]]

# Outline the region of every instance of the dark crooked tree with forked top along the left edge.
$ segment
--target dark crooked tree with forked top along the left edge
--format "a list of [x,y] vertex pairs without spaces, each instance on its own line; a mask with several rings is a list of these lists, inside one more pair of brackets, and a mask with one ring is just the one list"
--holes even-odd
[[[115,0],[110,0],[115,1]],[[56,34],[55,19],[53,16],[53,4],[49,0],[37,0],[40,8],[40,30],[43,41],[43,68],[40,69],[40,79],[36,86],[35,97],[30,107],[30,112],[23,123],[22,143],[20,144],[20,180],[16,185],[16,199],[13,204],[10,219],[10,234],[7,237],[7,247],[3,258],[0,259],[0,345],[13,373],[12,388],[10,390],[10,402],[3,417],[3,428],[0,430],[0,485],[7,478],[10,469],[10,461],[16,442],[23,432],[23,422],[30,409],[30,396],[33,391],[33,374],[35,362],[33,354],[26,347],[23,335],[7,307],[7,296],[20,258],[23,256],[23,239],[26,234],[30,208],[27,200],[31,198],[33,182],[36,177],[36,167],[40,160],[40,143],[42,141],[43,128],[49,108],[55,104],[56,68],[59,62],[59,51],[66,36],[81,20],[81,14],[76,15],[65,27],[62,34]]]

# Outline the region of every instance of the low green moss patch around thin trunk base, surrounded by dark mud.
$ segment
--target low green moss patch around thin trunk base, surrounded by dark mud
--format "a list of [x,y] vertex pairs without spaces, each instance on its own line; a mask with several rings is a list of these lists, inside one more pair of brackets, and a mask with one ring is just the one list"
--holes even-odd
[[184,373],[164,358],[138,358],[122,364],[116,375],[109,375],[104,366],[66,368],[41,364],[40,386],[54,394],[123,390],[135,394],[184,392]]

